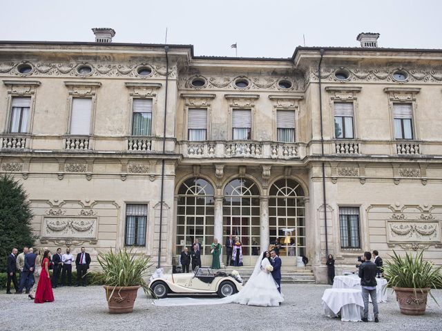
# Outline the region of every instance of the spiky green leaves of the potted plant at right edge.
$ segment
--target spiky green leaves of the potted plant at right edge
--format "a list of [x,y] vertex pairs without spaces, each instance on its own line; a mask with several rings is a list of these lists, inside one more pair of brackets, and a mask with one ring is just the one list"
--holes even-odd
[[[408,252],[405,252],[405,257],[399,256],[394,250],[393,253],[393,256],[390,255],[391,261],[385,261],[383,266],[384,277],[388,280],[389,286],[412,288],[414,295],[416,295],[416,289],[441,287],[442,267],[434,266],[431,261],[424,261],[423,251],[416,252],[414,257]],[[437,303],[432,293],[429,293]]]

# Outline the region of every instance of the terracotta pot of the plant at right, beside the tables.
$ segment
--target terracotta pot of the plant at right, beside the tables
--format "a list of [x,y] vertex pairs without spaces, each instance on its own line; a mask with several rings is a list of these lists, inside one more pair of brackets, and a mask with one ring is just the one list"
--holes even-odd
[[416,288],[416,294],[412,288],[393,288],[396,293],[401,314],[423,315],[427,308],[427,294],[430,288]]

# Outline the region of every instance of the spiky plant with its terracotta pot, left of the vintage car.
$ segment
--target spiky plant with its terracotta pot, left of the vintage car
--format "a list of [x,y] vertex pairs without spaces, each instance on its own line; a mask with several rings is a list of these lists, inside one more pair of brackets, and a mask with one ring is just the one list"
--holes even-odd
[[133,312],[137,291],[141,287],[150,293],[144,277],[148,268],[153,265],[151,257],[146,254],[135,254],[132,250],[110,250],[100,253],[97,257],[103,269],[104,289],[108,301],[109,312],[121,314]]

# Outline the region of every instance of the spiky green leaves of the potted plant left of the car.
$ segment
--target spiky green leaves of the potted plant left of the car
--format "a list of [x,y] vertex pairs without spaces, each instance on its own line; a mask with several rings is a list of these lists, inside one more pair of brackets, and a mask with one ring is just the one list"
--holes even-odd
[[[151,257],[146,254],[137,254],[133,250],[126,248],[114,252],[112,249],[108,252],[99,253],[97,257],[99,265],[103,269],[104,283],[108,286],[136,286],[140,285],[146,294],[151,290],[144,280],[147,277],[148,268],[151,263]],[[111,299],[113,292],[109,295]]]

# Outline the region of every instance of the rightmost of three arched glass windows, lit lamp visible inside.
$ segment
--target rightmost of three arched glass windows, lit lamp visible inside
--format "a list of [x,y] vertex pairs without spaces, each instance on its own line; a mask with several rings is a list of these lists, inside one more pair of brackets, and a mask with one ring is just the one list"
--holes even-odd
[[270,243],[279,239],[280,255],[305,255],[304,190],[292,179],[280,179],[271,185],[269,200]]

